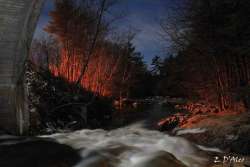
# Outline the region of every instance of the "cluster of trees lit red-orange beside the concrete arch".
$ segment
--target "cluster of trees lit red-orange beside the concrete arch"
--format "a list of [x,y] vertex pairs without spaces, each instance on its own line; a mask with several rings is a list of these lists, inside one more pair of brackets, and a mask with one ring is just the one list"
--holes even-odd
[[132,39],[119,44],[107,40],[104,18],[112,4],[97,2],[79,6],[72,0],[56,1],[45,30],[58,41],[60,55],[50,55],[49,69],[97,95],[128,97],[147,69]]

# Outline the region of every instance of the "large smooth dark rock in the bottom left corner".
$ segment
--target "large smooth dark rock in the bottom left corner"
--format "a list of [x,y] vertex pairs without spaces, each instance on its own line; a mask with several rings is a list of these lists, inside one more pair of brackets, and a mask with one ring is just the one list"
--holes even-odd
[[22,139],[0,144],[1,167],[72,167],[79,161],[77,151],[53,141]]

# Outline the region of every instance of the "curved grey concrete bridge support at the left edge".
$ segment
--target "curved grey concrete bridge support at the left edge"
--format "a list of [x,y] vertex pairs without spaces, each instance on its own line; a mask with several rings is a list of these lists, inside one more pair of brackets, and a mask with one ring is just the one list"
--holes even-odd
[[0,129],[24,134],[29,128],[24,63],[43,0],[0,0]]

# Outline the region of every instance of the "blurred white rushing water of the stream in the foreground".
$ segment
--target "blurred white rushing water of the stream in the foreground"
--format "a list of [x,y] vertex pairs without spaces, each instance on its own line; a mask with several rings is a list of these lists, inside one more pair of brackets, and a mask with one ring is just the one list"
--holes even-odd
[[207,163],[206,154],[184,138],[146,130],[140,125],[112,131],[80,130],[46,137],[80,150],[82,161],[76,167],[99,167],[98,164],[114,167],[203,167]]

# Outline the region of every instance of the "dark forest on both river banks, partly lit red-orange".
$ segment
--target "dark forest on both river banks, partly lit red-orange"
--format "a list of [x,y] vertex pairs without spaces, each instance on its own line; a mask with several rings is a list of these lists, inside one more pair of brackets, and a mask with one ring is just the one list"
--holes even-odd
[[[106,127],[117,115],[145,110],[153,103],[147,99],[160,97],[168,104],[184,101],[177,109],[248,111],[247,0],[173,1],[159,21],[159,42],[171,45],[150,65],[133,44],[137,32],[113,29],[115,20],[126,17],[110,15],[116,3],[55,1],[44,27],[49,35],[33,40],[27,65],[30,108],[41,120],[36,128]],[[170,128],[180,119],[168,119]]]

